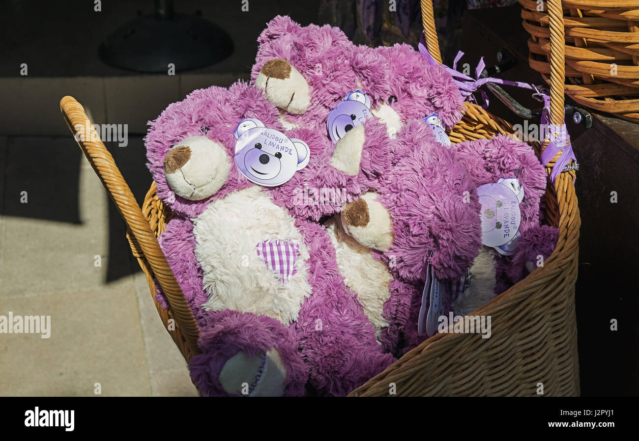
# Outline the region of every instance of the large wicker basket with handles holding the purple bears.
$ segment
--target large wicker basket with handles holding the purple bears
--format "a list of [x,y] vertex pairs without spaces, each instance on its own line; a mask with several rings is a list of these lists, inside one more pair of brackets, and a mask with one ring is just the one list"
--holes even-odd
[[[558,6],[558,1],[555,3]],[[431,0],[422,0],[427,47],[440,60]],[[559,16],[560,6],[558,6]],[[563,40],[563,24],[556,36]],[[564,45],[560,45],[564,47]],[[563,55],[553,57],[555,78],[563,78]],[[551,89],[552,123],[560,123],[564,110],[562,82]],[[66,122],[128,225],[131,250],[139,261],[155,301],[155,284],[167,294],[171,311],[156,303],[158,313],[176,345],[189,359],[197,354],[198,329],[189,305],[175,281],[157,236],[171,212],[151,184],[140,209],[119,173],[111,154],[88,125],[82,106],[72,97],[61,101]],[[74,128],[77,128],[74,130]],[[88,131],[88,132],[87,132]],[[511,134],[512,126],[477,105],[465,105],[463,121],[450,133],[452,142]],[[534,144],[537,154],[543,146]],[[554,161],[546,166],[550,173]],[[525,280],[475,311],[490,315],[492,336],[436,334],[408,352],[387,370],[371,378],[351,396],[386,396],[390,384],[397,395],[531,395],[539,383],[546,395],[578,395],[579,368],[574,314],[574,283],[580,216],[574,192],[574,170],[560,174],[546,191],[546,219],[559,228],[559,239],[544,266]],[[174,319],[174,321],[171,321]]]

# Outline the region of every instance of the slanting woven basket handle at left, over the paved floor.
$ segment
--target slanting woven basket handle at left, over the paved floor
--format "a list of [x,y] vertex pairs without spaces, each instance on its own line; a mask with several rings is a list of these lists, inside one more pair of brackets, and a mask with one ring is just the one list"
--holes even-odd
[[180,327],[182,336],[189,346],[191,355],[199,354],[197,338],[199,329],[189,303],[175,280],[171,267],[167,264],[166,257],[162,253],[160,244],[151,231],[151,226],[144,218],[142,210],[135,202],[135,198],[128,187],[124,177],[119,172],[111,153],[104,146],[100,136],[89,121],[82,105],[72,96],[65,96],[60,101],[60,110],[65,116],[66,125],[69,126],[73,136],[77,140],[82,153],[100,177],[100,181],[106,188],[109,196],[118,208],[119,214],[127,223],[129,230],[139,244],[144,257],[148,260],[153,273],[157,278],[162,291],[171,305],[176,325]]

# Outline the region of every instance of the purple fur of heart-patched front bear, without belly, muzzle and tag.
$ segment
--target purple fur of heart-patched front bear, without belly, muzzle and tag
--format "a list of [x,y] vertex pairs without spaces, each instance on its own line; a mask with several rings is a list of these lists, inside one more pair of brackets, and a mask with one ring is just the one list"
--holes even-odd
[[[195,218],[215,198],[254,185],[233,166],[218,193],[192,202],[177,197],[164,178],[164,155],[172,145],[192,135],[205,135],[220,142],[232,161],[233,131],[245,117],[256,117],[267,127],[283,131],[275,107],[263,98],[261,91],[242,83],[234,84],[228,91],[219,87],[195,91],[185,100],[170,105],[151,124],[146,137],[149,168],[159,197],[176,213]],[[300,129],[289,133],[291,137],[294,135],[305,140],[311,151],[325,149],[318,147],[322,138],[314,136],[312,131]],[[275,203],[290,207],[286,195],[295,184],[300,183],[263,191],[272,195]],[[293,198],[293,193],[288,194]],[[161,235],[167,261],[201,326],[198,345],[203,354],[194,357],[190,369],[204,394],[227,395],[217,378],[224,363],[240,350],[255,355],[270,347],[277,348],[288,370],[287,395],[302,394],[307,381],[318,394],[344,395],[394,361],[392,355],[382,353],[374,327],[364,315],[357,296],[344,285],[335,250],[324,228],[301,216],[296,217],[296,227],[309,250],[307,271],[312,294],[302,303],[298,321],[290,327],[262,315],[201,310],[206,294],[202,289],[202,269],[194,255],[192,220],[174,218]],[[164,301],[161,295],[160,301]]]

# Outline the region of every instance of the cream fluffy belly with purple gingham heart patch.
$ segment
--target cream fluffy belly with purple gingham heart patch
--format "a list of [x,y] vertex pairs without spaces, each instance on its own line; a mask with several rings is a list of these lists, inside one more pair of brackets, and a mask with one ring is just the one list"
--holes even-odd
[[214,200],[193,232],[209,297],[204,310],[264,314],[287,326],[297,320],[311,294],[309,251],[295,220],[265,191],[252,186]]

